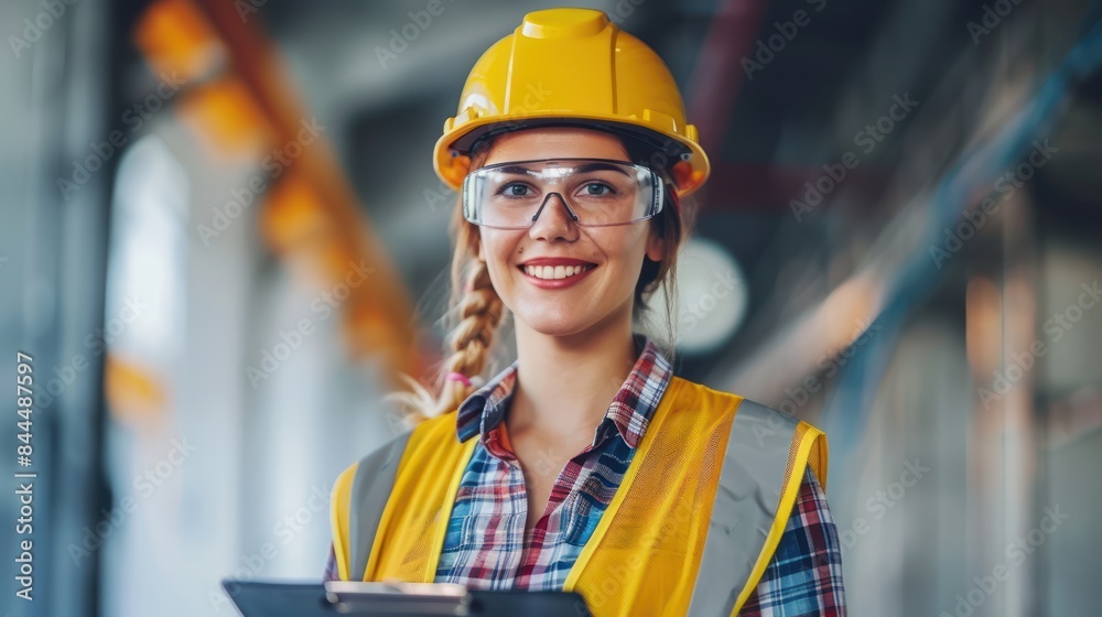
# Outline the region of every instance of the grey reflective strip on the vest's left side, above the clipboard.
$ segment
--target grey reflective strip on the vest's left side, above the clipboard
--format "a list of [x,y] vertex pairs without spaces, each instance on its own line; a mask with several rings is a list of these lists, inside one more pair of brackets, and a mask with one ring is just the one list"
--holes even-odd
[[363,581],[375,545],[375,533],[382,520],[390,490],[398,476],[398,463],[406,452],[412,431],[398,435],[360,459],[348,502],[348,578]]

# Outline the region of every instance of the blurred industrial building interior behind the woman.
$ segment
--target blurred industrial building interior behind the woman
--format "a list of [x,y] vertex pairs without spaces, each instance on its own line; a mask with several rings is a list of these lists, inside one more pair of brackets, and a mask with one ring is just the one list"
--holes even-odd
[[[1098,615],[1100,3],[579,4],[683,89],[714,171],[677,371],[827,430],[851,613]],[[0,6],[7,614],[321,577],[333,479],[440,359],[432,144],[551,6]]]

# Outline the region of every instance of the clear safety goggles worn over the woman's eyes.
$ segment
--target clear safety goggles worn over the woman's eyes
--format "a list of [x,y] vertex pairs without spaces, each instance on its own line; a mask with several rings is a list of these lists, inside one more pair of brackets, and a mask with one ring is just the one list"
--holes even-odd
[[560,202],[575,225],[629,225],[662,212],[665,194],[650,167],[624,161],[511,161],[467,174],[463,217],[480,227],[527,229]]

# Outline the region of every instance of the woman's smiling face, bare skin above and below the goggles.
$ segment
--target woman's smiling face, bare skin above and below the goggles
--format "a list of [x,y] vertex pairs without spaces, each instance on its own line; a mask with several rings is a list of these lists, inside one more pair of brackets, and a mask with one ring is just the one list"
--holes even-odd
[[[545,127],[498,137],[482,164],[582,158],[629,161],[612,134]],[[549,336],[572,335],[618,320],[630,323],[644,256],[660,261],[663,249],[651,220],[580,227],[557,197],[548,201],[528,229],[483,227],[479,235],[478,259],[486,261],[494,289],[518,327]]]

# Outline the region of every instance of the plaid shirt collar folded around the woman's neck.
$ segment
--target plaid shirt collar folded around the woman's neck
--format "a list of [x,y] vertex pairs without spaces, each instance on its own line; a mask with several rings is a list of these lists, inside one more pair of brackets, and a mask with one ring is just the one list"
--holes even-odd
[[[633,334],[638,358],[631,372],[605,412],[605,419],[594,433],[593,447],[597,447],[606,436],[616,431],[630,447],[637,447],[647,431],[647,424],[658,408],[662,393],[673,377],[669,361],[644,334]],[[490,432],[505,418],[512,398],[512,387],[517,382],[517,365],[508,368],[474,391],[463,403],[455,421],[460,442],[480,435],[486,444]],[[613,426],[614,429],[609,429]]]

